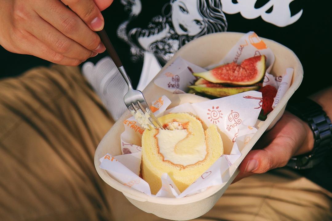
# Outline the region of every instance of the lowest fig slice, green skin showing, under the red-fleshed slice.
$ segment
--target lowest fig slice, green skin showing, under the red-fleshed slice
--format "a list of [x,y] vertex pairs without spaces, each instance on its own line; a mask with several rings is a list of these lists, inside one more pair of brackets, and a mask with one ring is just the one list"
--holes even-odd
[[194,89],[198,93],[214,96],[214,97],[226,97],[233,94],[238,94],[246,92],[249,90],[258,90],[259,85],[253,86],[241,86],[241,87],[224,87],[220,84],[208,83],[208,84],[198,84],[191,85],[189,88]]

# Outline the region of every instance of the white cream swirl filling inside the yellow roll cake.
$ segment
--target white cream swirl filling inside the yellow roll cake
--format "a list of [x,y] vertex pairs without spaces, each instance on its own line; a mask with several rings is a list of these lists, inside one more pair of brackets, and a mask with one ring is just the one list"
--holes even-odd
[[204,160],[207,155],[205,143],[203,146],[191,150],[191,154],[177,154],[175,152],[176,144],[186,138],[187,135],[187,130],[159,130],[156,138],[158,139],[159,152],[164,156],[164,160],[169,160],[174,164],[180,164],[183,166],[195,164],[198,161]]

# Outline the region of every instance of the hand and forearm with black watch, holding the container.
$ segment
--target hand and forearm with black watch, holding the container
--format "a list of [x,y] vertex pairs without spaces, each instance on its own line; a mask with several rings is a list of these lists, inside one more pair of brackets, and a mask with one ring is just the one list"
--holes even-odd
[[[332,119],[332,87],[319,91],[310,99],[322,106]],[[313,132],[308,124],[288,111],[265,133],[239,166],[240,173],[234,182],[253,174],[286,166],[292,156],[305,154],[313,149]]]

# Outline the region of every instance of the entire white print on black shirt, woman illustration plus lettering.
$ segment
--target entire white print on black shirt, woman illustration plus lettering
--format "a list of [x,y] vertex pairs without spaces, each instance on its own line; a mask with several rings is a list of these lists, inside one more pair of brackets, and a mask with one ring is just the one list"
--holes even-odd
[[[232,0],[170,0],[160,9],[160,15],[143,24],[144,28],[127,30],[130,21],[141,13],[142,3],[140,0],[121,0],[124,9],[129,11],[129,19],[119,26],[117,35],[129,44],[133,62],[144,58],[139,83],[139,89],[143,89],[161,69],[159,61],[166,63],[179,48],[199,36],[226,31],[224,13],[240,12],[246,19],[261,16],[268,23],[285,27],[302,15],[301,10],[290,16],[292,1],[270,0],[256,9],[257,0],[237,0],[237,3]],[[272,11],[267,13],[271,7]]]

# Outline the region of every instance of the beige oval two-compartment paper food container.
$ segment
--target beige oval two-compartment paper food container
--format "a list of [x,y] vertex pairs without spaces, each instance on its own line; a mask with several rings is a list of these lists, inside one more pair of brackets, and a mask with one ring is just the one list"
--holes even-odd
[[[202,36],[197,38],[184,47],[182,47],[174,57],[165,65],[161,70],[163,72],[167,66],[178,57],[196,64],[200,67],[207,67],[211,64],[218,63],[233,47],[233,45],[244,35],[244,33],[235,32],[220,32]],[[302,65],[297,56],[287,47],[269,40],[262,38],[266,45],[272,49],[275,55],[274,65],[271,74],[282,75],[287,68],[293,68],[293,77],[291,80],[290,88],[287,90],[284,97],[280,100],[279,104],[270,113],[269,117],[258,124],[258,131],[251,138],[242,150],[241,157],[229,168],[230,179],[227,183],[219,186],[208,188],[202,193],[186,196],[183,198],[167,198],[167,197],[154,197],[145,193],[141,193],[130,187],[124,186],[120,182],[113,179],[106,170],[101,169],[99,159],[105,154],[109,153],[113,156],[122,154],[120,135],[124,131],[123,121],[131,116],[129,111],[126,111],[122,117],[114,124],[110,131],[99,143],[95,152],[95,167],[99,176],[111,187],[122,192],[124,196],[136,207],[147,212],[153,213],[159,217],[171,220],[189,220],[194,219],[207,213],[226,191],[227,187],[231,184],[233,179],[238,174],[237,167],[251,150],[256,141],[262,134],[275,125],[284,113],[287,101],[299,87],[303,78]],[[256,42],[259,43],[259,42]],[[160,72],[160,73],[161,73]],[[208,100],[207,98],[194,95],[194,94],[176,94],[169,92],[161,87],[156,86],[153,81],[143,90],[143,94],[148,103],[157,100],[160,96],[166,95],[171,101],[172,108],[182,103],[196,103]],[[222,198],[220,199],[222,200]]]

